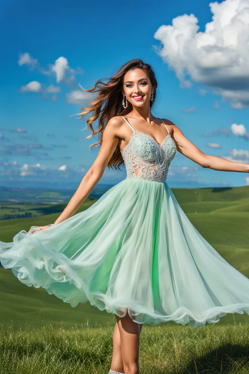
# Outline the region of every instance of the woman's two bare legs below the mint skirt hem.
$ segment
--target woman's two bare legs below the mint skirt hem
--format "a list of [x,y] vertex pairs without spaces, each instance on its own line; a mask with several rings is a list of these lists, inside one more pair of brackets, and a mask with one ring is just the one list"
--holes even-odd
[[115,317],[117,324],[113,331],[111,370],[125,374],[138,374],[139,341],[142,324],[134,322],[128,315],[128,312],[122,318],[117,315]]

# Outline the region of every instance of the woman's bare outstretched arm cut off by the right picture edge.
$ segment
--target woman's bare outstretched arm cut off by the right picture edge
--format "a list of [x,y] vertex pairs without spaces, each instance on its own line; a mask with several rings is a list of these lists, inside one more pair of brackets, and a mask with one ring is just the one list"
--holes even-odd
[[183,132],[176,125],[174,125],[174,123],[171,121],[167,122],[174,130],[171,137],[175,142],[177,150],[190,160],[196,162],[198,165],[202,166],[203,168],[213,170],[249,173],[248,164],[230,161],[223,159],[222,157],[210,156],[209,154],[203,153],[183,135]]

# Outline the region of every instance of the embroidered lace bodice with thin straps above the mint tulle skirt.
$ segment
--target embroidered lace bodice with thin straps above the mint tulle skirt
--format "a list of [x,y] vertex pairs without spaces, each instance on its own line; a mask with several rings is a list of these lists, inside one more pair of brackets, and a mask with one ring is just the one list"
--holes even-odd
[[164,121],[161,119],[168,135],[162,144],[158,144],[150,135],[134,130],[127,119],[121,117],[133,130],[128,144],[123,151],[120,150],[127,171],[126,179],[135,178],[164,183],[169,164],[176,152],[175,142],[171,138]]

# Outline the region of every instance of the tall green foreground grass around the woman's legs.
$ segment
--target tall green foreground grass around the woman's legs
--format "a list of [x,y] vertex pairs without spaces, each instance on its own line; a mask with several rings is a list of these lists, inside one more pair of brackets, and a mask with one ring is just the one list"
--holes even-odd
[[[106,327],[34,331],[0,327],[1,374],[108,374],[114,322]],[[140,374],[249,373],[249,324],[144,325]]]

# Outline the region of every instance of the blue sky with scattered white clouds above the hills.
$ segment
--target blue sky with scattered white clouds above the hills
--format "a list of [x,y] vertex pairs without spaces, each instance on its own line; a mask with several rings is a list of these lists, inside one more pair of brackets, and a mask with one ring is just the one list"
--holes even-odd
[[[243,4],[2,3],[1,186],[77,186],[99,151],[89,151],[97,138],[86,139],[86,123],[69,117],[89,99],[80,85],[91,88],[133,58],[155,70],[153,115],[174,122],[204,153],[249,163],[249,0]],[[124,178],[124,168],[107,168],[100,183]],[[202,169],[177,153],[167,182],[225,187],[249,184],[249,178]]]

